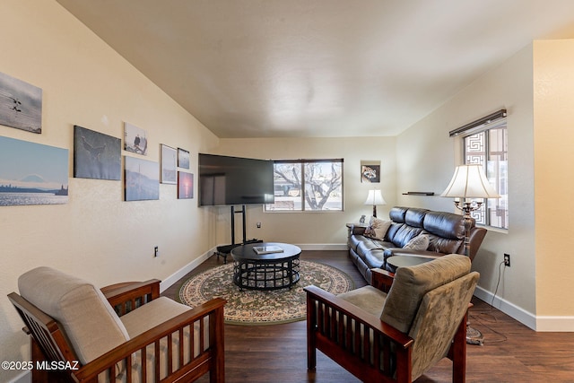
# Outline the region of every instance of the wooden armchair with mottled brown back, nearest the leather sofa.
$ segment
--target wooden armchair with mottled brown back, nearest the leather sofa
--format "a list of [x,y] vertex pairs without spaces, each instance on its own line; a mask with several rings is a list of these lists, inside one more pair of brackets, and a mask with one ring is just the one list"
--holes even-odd
[[320,350],[362,381],[411,382],[448,357],[453,381],[464,382],[466,312],[478,278],[468,257],[452,254],[394,276],[374,270],[372,285],[338,296],[306,287],[309,370]]

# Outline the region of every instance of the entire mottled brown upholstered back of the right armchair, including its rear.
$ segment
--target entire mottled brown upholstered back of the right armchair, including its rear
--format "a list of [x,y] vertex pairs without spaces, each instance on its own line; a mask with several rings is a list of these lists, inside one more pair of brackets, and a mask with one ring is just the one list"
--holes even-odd
[[380,318],[415,340],[413,379],[448,353],[478,283],[470,266],[468,257],[450,254],[396,270]]

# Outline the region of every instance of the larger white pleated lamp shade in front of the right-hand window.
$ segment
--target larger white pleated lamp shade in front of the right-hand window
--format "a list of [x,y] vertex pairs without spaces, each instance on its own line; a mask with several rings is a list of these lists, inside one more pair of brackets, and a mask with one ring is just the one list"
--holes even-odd
[[491,186],[483,166],[470,164],[457,166],[447,189],[440,196],[455,198],[500,198]]

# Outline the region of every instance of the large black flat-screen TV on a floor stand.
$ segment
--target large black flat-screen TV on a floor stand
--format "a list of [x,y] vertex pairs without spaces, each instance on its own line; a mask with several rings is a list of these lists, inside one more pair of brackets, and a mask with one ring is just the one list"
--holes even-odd
[[199,205],[274,203],[273,161],[199,153]]

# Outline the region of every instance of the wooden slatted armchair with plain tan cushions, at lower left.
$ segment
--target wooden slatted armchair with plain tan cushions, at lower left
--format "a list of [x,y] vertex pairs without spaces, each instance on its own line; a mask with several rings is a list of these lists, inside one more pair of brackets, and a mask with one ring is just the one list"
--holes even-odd
[[[48,267],[18,280],[13,302],[30,334],[32,382],[223,382],[223,306],[160,297],[160,281],[101,289]],[[44,363],[44,364],[42,364]],[[54,369],[54,367],[56,367]]]

